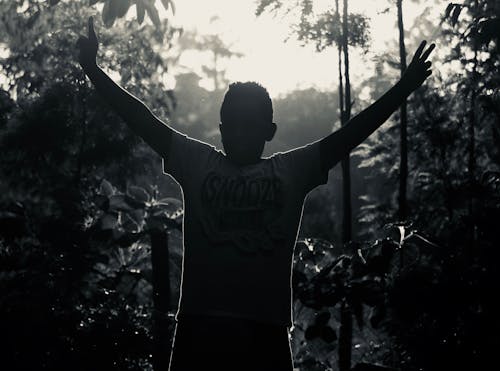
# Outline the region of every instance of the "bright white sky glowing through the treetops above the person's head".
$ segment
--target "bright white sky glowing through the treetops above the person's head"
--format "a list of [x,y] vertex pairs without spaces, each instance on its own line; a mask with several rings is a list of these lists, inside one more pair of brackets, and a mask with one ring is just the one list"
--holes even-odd
[[[255,17],[255,0],[177,0],[175,3],[175,25],[195,29],[199,33],[217,33],[229,45],[233,45],[236,51],[245,54],[243,58],[228,61],[224,66],[226,76],[231,81],[258,81],[272,96],[310,86],[322,90],[336,89],[336,50],[330,48],[317,53],[313,45],[300,46],[294,35],[285,43],[284,40],[290,35],[290,18],[273,18],[269,14]],[[373,75],[370,60],[385,52],[387,43],[398,40],[395,7],[390,12],[382,13],[393,3],[389,0],[349,1],[351,12],[364,13],[370,18],[372,39],[367,56],[362,57],[352,52],[351,79],[354,83]],[[407,33],[425,7],[431,6],[434,14],[442,14],[446,2],[438,2],[442,3],[439,6],[434,5],[435,3],[433,0],[421,0],[418,4],[410,0],[403,2]],[[333,4],[333,0],[315,0],[314,9],[322,11]],[[158,9],[162,9],[160,4]],[[213,16],[217,16],[218,20],[211,22]],[[399,58],[398,51],[394,50],[394,53],[395,58]],[[409,50],[408,54],[411,53],[412,50]],[[208,59],[205,60],[208,63]],[[185,53],[180,63],[199,71],[203,61],[204,57],[199,53]],[[202,84],[206,87],[210,85],[208,81],[202,81]]]

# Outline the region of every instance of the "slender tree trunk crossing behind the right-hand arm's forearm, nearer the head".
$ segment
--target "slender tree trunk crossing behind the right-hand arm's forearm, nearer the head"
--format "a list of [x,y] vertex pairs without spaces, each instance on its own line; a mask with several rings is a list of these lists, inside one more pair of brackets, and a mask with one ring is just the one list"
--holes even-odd
[[[348,45],[348,17],[347,0],[344,0],[342,21],[342,49],[344,51],[344,78],[345,78],[345,105],[342,123],[345,125],[351,118],[351,82],[349,79],[349,45]],[[342,199],[343,199],[343,222],[342,242],[344,245],[352,238],[352,207],[351,207],[351,169],[349,154],[342,160]]]

